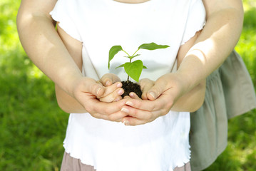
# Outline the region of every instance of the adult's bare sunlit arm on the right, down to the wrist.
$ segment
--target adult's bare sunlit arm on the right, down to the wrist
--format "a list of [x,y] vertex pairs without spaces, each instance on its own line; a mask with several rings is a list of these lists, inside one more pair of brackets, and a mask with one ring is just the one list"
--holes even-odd
[[[241,0],[203,0],[206,24],[180,64],[185,92],[193,89],[221,66],[240,38],[243,22]],[[189,73],[189,74],[188,74]],[[158,97],[161,92],[153,89]]]

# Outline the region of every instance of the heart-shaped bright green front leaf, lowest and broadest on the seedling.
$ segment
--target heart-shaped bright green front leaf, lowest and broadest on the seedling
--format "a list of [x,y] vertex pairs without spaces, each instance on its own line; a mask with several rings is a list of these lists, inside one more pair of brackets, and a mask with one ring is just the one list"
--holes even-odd
[[143,69],[143,62],[140,60],[134,61],[132,63],[125,63],[124,68],[128,76],[133,78],[135,81],[139,81],[140,74]]

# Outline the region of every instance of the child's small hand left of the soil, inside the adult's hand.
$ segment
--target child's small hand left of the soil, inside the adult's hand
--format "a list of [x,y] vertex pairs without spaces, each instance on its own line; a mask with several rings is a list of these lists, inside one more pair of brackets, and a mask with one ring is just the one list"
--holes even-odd
[[97,97],[98,100],[106,103],[111,103],[114,101],[121,100],[121,95],[124,93],[123,85],[118,76],[112,73],[106,73],[101,80],[99,81],[103,86],[106,87],[105,92],[100,97]]

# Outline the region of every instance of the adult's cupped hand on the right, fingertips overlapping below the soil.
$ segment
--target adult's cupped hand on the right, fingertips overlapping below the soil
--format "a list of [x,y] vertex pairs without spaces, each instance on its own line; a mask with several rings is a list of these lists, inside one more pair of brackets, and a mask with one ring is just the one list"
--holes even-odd
[[[149,82],[150,83],[150,82]],[[126,106],[121,110],[128,114],[123,118],[125,125],[141,125],[150,123],[156,118],[166,115],[175,100],[185,93],[183,81],[175,73],[168,73],[158,78],[145,88],[146,98],[141,100],[135,93],[130,93]],[[153,86],[152,86],[153,85]]]

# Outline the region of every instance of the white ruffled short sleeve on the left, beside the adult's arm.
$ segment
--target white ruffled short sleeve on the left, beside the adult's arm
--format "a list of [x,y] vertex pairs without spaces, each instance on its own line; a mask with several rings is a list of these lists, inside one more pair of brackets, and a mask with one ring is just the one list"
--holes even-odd
[[[71,2],[75,3],[74,1]],[[50,15],[53,20],[59,22],[58,25],[68,33],[69,36],[78,41],[82,41],[76,24],[76,11],[74,8],[71,8],[71,6],[73,6],[73,4],[70,3],[70,1],[58,0],[53,11],[50,12]]]

